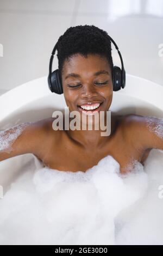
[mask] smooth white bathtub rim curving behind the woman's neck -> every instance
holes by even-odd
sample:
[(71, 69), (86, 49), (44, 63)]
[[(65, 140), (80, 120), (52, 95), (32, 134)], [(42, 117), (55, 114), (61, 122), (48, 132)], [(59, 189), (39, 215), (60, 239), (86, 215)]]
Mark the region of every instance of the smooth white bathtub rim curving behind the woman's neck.
[[(125, 94), (135, 97), (163, 111), (163, 101), (161, 97), (161, 95), (163, 95), (163, 86), (146, 80), (145, 78), (127, 74), (126, 87), (118, 92), (113, 92), (113, 97), (114, 94)], [(17, 95), (21, 95), (21, 97), (17, 97)], [(0, 96), (0, 109), (3, 109), (3, 111), (0, 112), (0, 120), (2, 121), (12, 112), (15, 112), (24, 105), (48, 95), (52, 95), (52, 93), (48, 88), (47, 76), (36, 78), (35, 80), (9, 90)], [(61, 97), (64, 99), (64, 94), (55, 94), (56, 104), (60, 104)], [(7, 105), (8, 102), (12, 102), (12, 104)]]

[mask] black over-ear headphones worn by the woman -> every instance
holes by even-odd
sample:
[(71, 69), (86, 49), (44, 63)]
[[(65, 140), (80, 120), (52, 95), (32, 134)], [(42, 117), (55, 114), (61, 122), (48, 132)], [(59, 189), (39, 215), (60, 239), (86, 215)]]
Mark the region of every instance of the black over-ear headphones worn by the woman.
[[(115, 45), (116, 50), (118, 51), (118, 54), (121, 59), (121, 65), (122, 65), (122, 69), (120, 69), (118, 66), (114, 66), (114, 70), (113, 70), (112, 84), (113, 84), (113, 90), (116, 92), (117, 90), (120, 90), (121, 88), (124, 88), (126, 86), (126, 72), (124, 70), (121, 52), (119, 51), (115, 41), (110, 36), (109, 38), (111, 42)], [(55, 71), (52, 72), (53, 58), (56, 50), (57, 50), (57, 44), (53, 48), (50, 62), (49, 62), (48, 87), (52, 93), (62, 94), (63, 88), (62, 88), (61, 79), (59, 77), (59, 70), (56, 69)]]

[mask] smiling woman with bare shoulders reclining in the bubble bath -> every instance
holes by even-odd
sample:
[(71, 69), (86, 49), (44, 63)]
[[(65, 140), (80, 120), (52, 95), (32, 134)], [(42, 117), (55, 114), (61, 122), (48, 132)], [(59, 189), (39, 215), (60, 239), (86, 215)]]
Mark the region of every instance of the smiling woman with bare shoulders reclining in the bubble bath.
[[(58, 40), (57, 51), (59, 76), (70, 112), (87, 116), (93, 109), (104, 111), (106, 122), (114, 69), (108, 34), (95, 26), (68, 28)], [(54, 130), (54, 119), (2, 131), (0, 161), (33, 153), (49, 168), (85, 172), (111, 155), (120, 164), (121, 173), (126, 173), (135, 160), (143, 163), (152, 148), (163, 150), (163, 120), (159, 118), (111, 114), (109, 136), (101, 136), (101, 129)]]

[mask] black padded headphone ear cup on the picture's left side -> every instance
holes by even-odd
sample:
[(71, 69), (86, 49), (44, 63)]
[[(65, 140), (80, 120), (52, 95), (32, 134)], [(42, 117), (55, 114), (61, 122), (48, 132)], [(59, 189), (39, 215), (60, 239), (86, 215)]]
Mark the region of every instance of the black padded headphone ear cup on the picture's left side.
[(51, 78), (51, 88), (50, 88), (51, 91), (53, 93), (62, 94), (63, 89), (62, 89), (62, 84), (60, 81), (58, 69), (52, 72), (51, 77), (49, 77), (48, 79), (50, 78)]

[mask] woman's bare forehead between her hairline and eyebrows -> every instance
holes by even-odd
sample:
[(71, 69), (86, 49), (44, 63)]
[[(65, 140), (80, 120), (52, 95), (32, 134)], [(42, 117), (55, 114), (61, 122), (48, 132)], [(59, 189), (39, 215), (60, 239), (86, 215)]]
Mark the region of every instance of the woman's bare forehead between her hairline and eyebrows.
[(87, 57), (76, 54), (70, 59), (65, 60), (63, 66), (63, 75), (66, 76), (70, 72), (78, 74), (93, 74), (99, 70), (110, 71), (108, 60), (98, 54), (87, 54)]

